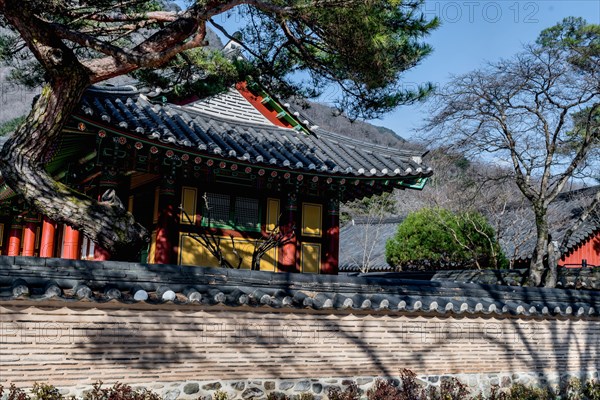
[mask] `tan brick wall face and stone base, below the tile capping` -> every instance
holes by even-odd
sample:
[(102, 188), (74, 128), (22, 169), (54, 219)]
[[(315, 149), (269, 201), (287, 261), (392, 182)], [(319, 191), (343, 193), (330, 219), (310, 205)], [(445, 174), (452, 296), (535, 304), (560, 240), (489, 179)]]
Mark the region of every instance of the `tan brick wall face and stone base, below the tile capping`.
[(0, 303), (0, 383), (80, 392), (119, 381), (169, 399), (221, 385), (248, 399), (321, 396), (356, 377), (366, 390), (408, 368), (425, 382), (460, 374), (481, 389), (565, 373), (597, 378), (599, 340), (598, 318), (14, 300)]

